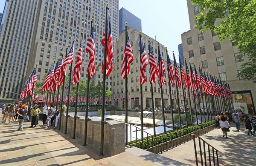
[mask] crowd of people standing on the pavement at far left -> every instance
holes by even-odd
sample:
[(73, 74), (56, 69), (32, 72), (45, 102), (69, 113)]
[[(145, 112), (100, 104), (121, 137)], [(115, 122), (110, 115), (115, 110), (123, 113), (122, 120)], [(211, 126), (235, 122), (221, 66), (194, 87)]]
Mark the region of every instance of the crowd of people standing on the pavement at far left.
[(44, 106), (43, 111), (41, 111), (38, 108), (37, 104), (35, 104), (33, 107), (30, 108), (31, 111), (29, 111), (29, 106), (28, 106), (29, 103), (19, 104), (19, 105), (5, 104), (1, 106), (2, 114), (3, 114), (2, 123), (19, 122), (18, 130), (22, 130), (23, 122), (29, 121), (29, 118), (31, 118), (30, 128), (37, 127), (39, 114), (42, 112), (41, 114), (43, 116), (43, 126), (46, 126), (47, 129), (50, 129), (50, 126), (54, 126), (53, 129), (56, 129), (58, 125), (58, 120), (60, 118), (60, 112), (62, 114), (65, 114), (67, 111), (67, 106), (65, 104), (66, 103), (63, 102), (62, 112), (61, 112), (61, 108), (59, 108), (56, 111), (56, 105), (53, 105), (53, 103), (47, 103)]

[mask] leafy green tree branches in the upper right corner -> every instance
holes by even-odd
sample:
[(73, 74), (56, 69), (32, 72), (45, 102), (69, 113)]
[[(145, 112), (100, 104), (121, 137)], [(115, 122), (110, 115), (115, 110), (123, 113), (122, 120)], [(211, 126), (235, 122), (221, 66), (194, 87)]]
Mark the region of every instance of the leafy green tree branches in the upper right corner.
[[(200, 7), (196, 28), (212, 30), (220, 41), (229, 37), (249, 60), (237, 77), (256, 79), (256, 0), (190, 0)], [(220, 21), (220, 24), (216, 23)]]

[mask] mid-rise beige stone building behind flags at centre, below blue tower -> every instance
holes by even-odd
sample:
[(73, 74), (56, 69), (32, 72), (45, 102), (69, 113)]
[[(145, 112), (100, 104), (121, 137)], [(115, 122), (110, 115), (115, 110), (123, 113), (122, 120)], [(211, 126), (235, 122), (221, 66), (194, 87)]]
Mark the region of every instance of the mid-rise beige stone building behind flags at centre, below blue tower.
[[(131, 47), (133, 50), (134, 61), (130, 65), (130, 74), (128, 74), (128, 109), (138, 109), (140, 103), (140, 31), (137, 29), (133, 29), (129, 27), (127, 29), (131, 41)], [(148, 54), (149, 59), (149, 46), (148, 46), (148, 37), (146, 34), (142, 34), (143, 44), (145, 46), (146, 52)], [(154, 50), (154, 56), (156, 57), (156, 62), (158, 64), (158, 54), (157, 54), (157, 43), (158, 41), (150, 38), (151, 46)], [(113, 63), (113, 73), (112, 73), (112, 98), (124, 98), (125, 97), (125, 80), (121, 77), (121, 69), (122, 69), (122, 61), (125, 47), (125, 31), (122, 31), (119, 34), (119, 40), (116, 42), (116, 61)], [(166, 47), (163, 44), (159, 44), (160, 52), (162, 54), (162, 58), (166, 68), (167, 62), (167, 54)], [(172, 57), (172, 54), (170, 54)], [(173, 62), (172, 62), (173, 63)], [(151, 85), (150, 81), (150, 65), (145, 68), (145, 77), (146, 81), (143, 85), (143, 108), (151, 107)], [(169, 93), (169, 82), (168, 82), (168, 73), (167, 69), (165, 72), (166, 84), (163, 86), (163, 101), (165, 106), (170, 105), (170, 93)], [(158, 79), (156, 79), (156, 83), (152, 83), (153, 92), (154, 92), (154, 106), (156, 108), (161, 107), (161, 93), (160, 87), (158, 84)], [(172, 100), (174, 103), (174, 95), (176, 94), (176, 89), (172, 87)], [(181, 92), (179, 90), (179, 100), (180, 103), (184, 104), (183, 98), (181, 98)], [(134, 97), (136, 101), (134, 102)], [(175, 101), (177, 105), (177, 101)], [(125, 102), (123, 103), (112, 103), (119, 107), (119, 109), (125, 108)]]

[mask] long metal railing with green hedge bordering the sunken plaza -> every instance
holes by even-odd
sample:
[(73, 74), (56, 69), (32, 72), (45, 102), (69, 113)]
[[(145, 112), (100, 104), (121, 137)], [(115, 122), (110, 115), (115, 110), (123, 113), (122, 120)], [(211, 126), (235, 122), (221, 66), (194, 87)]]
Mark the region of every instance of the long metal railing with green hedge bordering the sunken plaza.
[(136, 146), (140, 149), (145, 149), (149, 152), (160, 154), (168, 151), (169, 149), (172, 149), (173, 147), (177, 147), (182, 143), (192, 140), (193, 137), (191, 136), (191, 134), (203, 135), (207, 132), (212, 131), (213, 129), (215, 129), (215, 120), (191, 126), (186, 129), (177, 130), (175, 132), (168, 132), (164, 135), (159, 135), (156, 137), (144, 131), (145, 133), (147, 133), (147, 137), (145, 137), (144, 140), (138, 140), (136, 127), (136, 140), (131, 141), (131, 139), (128, 145), (126, 145), (125, 147)]

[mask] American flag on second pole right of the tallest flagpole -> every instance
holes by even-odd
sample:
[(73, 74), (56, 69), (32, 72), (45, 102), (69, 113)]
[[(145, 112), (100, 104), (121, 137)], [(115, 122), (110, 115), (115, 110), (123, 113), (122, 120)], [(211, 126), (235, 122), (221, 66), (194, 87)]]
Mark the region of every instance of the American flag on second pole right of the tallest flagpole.
[(148, 65), (148, 57), (145, 51), (143, 40), (141, 39), (141, 57), (140, 57), (140, 83), (145, 83), (145, 67)]

